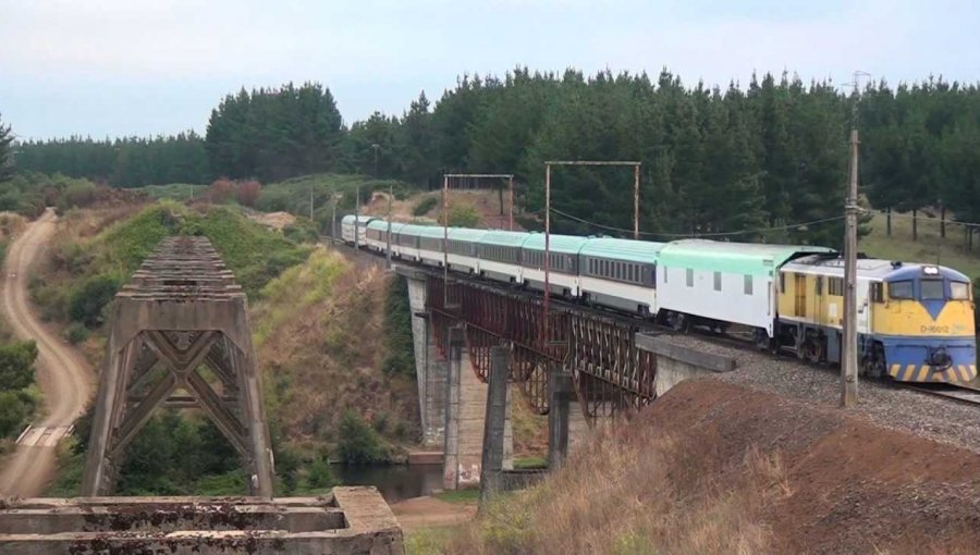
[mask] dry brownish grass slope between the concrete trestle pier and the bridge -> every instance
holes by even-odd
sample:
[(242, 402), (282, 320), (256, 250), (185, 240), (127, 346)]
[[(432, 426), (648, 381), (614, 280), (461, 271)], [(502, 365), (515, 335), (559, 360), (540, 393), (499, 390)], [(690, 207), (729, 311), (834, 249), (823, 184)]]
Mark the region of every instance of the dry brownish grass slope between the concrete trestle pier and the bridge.
[(352, 412), (377, 432), (368, 440), (378, 443), (373, 458), (400, 458), (397, 445), (418, 435), (414, 366), (379, 342), (392, 325), (390, 287), (377, 268), (320, 248), (262, 288), (253, 325), (266, 404), (282, 436), (305, 456), (336, 459), (340, 424)]

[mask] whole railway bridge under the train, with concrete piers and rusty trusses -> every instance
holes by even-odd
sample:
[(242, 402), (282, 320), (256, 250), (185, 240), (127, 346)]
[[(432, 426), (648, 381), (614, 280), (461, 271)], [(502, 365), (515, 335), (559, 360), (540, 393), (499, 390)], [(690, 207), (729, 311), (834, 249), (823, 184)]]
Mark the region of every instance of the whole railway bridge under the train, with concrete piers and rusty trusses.
[[(597, 422), (648, 405), (691, 373), (734, 368), (672, 345), (649, 321), (554, 300), (546, 312), (540, 293), (465, 275), (446, 280), (429, 267), (395, 271), (408, 283), (421, 427), (427, 443), (444, 452), (445, 489), (479, 480), (483, 439), (492, 433), (487, 384), (500, 347), (509, 355), (507, 391), (548, 415), (550, 465)], [(506, 469), (506, 419), (501, 432)]]

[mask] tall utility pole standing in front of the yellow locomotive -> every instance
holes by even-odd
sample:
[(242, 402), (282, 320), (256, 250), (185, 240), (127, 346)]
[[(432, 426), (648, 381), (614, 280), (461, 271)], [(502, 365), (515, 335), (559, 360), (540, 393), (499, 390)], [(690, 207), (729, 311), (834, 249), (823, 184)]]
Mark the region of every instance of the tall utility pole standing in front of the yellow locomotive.
[(857, 404), (857, 180), (858, 180), (858, 131), (857, 102), (858, 77), (868, 75), (854, 72), (854, 108), (850, 130), (850, 180), (844, 200), (846, 217), (844, 232), (844, 345), (841, 356), (841, 406)]

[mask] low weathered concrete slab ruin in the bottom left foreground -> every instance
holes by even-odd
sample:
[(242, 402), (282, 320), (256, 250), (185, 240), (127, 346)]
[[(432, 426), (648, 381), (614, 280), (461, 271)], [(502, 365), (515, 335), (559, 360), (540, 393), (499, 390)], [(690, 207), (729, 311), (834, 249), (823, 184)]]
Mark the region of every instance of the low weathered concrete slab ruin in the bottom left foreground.
[(373, 488), (321, 497), (0, 499), (0, 555), (402, 555)]

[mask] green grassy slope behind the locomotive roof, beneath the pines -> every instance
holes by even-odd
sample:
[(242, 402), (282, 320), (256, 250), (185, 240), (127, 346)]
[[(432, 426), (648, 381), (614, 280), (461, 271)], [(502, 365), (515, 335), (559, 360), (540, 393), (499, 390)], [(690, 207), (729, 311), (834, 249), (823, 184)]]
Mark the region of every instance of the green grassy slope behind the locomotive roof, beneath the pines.
[[(939, 218), (930, 219), (919, 212), (918, 240), (912, 240), (911, 213), (893, 214), (892, 236), (887, 236), (885, 215), (875, 213), (868, 226), (871, 233), (861, 237), (858, 250), (869, 257), (904, 262), (939, 263), (980, 279), (980, 245), (973, 251), (964, 248), (963, 229), (946, 223), (946, 238), (940, 236)], [(947, 214), (948, 217), (948, 214)]]

